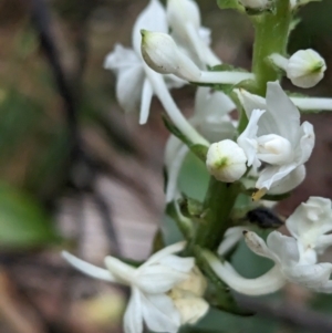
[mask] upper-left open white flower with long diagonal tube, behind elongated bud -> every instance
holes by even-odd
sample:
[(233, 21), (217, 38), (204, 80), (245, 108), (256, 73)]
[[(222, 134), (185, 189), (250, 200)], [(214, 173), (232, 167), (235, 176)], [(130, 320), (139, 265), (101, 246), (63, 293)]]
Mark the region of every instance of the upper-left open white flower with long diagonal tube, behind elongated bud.
[(133, 49), (116, 45), (106, 59), (104, 66), (113, 70), (117, 75), (116, 96), (125, 111), (136, 110), (141, 102), (139, 124), (148, 118), (152, 97), (155, 94), (172, 122), (190, 141), (208, 145), (207, 141), (188, 124), (168, 91), (169, 87), (179, 87), (184, 84), (174, 75), (164, 77), (151, 70), (141, 55), (141, 30), (152, 29), (167, 32), (167, 20), (164, 7), (158, 0), (151, 0), (149, 4), (138, 15), (133, 28)]

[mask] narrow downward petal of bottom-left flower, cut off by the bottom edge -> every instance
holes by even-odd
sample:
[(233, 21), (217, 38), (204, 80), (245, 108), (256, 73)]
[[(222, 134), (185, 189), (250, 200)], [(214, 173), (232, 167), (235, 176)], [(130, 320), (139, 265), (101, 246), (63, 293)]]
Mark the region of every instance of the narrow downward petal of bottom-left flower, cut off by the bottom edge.
[(143, 332), (143, 303), (141, 300), (141, 292), (135, 287), (132, 288), (132, 295), (123, 322), (125, 333)]

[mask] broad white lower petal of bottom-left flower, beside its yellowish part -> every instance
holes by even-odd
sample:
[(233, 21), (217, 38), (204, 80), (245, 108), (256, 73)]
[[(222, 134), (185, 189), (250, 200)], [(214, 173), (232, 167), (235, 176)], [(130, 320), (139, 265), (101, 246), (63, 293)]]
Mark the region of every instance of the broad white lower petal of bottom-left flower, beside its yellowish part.
[(180, 326), (179, 312), (165, 294), (141, 294), (143, 316), (153, 332), (176, 333)]

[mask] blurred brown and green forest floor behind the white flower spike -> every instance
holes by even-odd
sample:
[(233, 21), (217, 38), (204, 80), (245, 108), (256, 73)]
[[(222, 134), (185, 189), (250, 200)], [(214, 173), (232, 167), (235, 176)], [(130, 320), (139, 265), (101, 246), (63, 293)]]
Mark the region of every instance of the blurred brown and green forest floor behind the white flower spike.
[[(250, 69), (249, 20), (197, 1), (212, 29), (216, 53)], [(132, 25), (146, 0), (0, 0), (0, 332), (122, 332), (128, 291), (93, 281), (68, 267), (68, 249), (103, 264), (106, 254), (143, 260), (159, 228), (178, 238), (163, 217), (163, 156), (167, 139), (158, 101), (146, 125), (124, 115), (115, 76), (103, 69), (115, 43), (131, 46)], [(332, 1), (299, 12), (290, 53), (313, 48), (326, 60), (324, 80), (308, 94), (332, 97)], [(286, 89), (292, 89), (284, 82)], [(185, 114), (195, 87), (174, 91)], [(307, 92), (305, 92), (307, 93)], [(304, 115), (315, 126), (317, 146), (308, 178), (278, 206), (289, 216), (310, 195), (332, 195), (330, 114)], [(184, 191), (204, 196), (207, 174), (193, 156), (183, 167)], [(245, 256), (245, 258), (243, 258)], [(326, 261), (331, 261), (331, 253)], [(257, 277), (269, 262), (240, 247), (234, 264)], [(332, 332), (332, 298), (289, 285), (255, 300), (257, 312), (239, 318), (211, 313), (184, 331), (225, 333)], [(218, 327), (218, 330), (216, 330)]]

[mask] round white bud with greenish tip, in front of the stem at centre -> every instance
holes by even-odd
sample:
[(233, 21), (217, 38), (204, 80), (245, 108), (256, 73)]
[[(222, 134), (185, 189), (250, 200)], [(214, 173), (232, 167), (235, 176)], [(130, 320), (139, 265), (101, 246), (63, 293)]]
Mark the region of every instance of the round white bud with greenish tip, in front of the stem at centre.
[(247, 157), (242, 148), (230, 139), (211, 144), (206, 166), (216, 179), (232, 183), (243, 176), (247, 170)]

